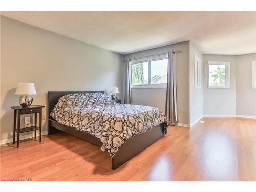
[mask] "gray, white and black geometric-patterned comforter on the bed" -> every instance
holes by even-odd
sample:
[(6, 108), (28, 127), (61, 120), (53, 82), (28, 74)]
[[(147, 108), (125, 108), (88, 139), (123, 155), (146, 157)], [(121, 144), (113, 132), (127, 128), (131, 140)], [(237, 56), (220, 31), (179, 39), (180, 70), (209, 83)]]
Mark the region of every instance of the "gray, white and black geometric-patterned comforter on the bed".
[(50, 114), (57, 122), (90, 133), (113, 158), (127, 139), (168, 120), (158, 108), (117, 104), (102, 93), (69, 94), (59, 98)]

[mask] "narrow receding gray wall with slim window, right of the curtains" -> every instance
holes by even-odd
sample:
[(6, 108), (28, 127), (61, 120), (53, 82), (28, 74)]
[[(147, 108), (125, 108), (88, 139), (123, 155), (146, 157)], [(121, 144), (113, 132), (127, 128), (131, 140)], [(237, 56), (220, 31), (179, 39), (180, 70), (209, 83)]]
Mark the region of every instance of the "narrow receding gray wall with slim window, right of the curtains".
[[(189, 41), (190, 126), (203, 115), (203, 54)], [(195, 88), (195, 55), (201, 59), (201, 88)]]

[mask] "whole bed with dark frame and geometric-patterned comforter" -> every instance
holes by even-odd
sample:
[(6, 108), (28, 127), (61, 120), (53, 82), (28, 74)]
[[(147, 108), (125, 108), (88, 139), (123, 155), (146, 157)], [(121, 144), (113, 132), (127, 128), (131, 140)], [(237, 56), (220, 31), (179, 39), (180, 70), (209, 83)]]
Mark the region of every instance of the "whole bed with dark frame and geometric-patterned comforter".
[(157, 108), (117, 104), (103, 93), (49, 91), (48, 134), (63, 131), (101, 147), (109, 152), (115, 170), (163, 137), (167, 119)]

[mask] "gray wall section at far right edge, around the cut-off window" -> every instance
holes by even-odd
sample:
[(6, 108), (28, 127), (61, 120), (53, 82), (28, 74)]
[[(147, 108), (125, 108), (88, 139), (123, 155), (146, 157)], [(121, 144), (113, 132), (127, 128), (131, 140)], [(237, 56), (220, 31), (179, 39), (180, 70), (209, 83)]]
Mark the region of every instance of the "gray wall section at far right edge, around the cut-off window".
[(252, 89), (252, 61), (256, 60), (256, 53), (236, 58), (236, 114), (256, 117), (256, 89)]

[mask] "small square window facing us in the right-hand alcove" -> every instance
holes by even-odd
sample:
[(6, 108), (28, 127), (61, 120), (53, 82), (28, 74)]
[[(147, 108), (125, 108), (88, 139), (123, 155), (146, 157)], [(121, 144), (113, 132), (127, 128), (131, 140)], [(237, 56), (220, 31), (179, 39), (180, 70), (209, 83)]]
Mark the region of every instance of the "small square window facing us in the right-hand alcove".
[(229, 88), (229, 62), (208, 62), (208, 88)]

